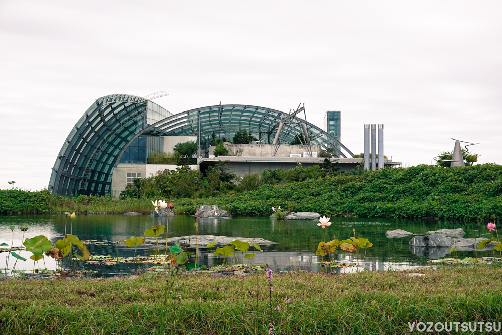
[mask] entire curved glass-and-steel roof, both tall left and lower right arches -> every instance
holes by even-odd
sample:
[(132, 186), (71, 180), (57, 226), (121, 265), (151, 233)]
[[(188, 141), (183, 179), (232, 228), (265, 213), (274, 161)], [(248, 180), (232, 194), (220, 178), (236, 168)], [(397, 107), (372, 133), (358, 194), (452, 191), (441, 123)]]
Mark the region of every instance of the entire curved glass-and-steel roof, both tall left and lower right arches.
[[(49, 189), (59, 195), (106, 195), (111, 192), (113, 168), (124, 151), (139, 136), (197, 136), (201, 141), (214, 132), (231, 140), (239, 130), (272, 144), (282, 111), (250, 105), (215, 105), (172, 115), (150, 100), (128, 94), (97, 99), (66, 138), (51, 173)], [(352, 152), (334, 137), (299, 117), (281, 130), (280, 143), (289, 144), (302, 133), (301, 124), (312, 133), (312, 144)], [(346, 155), (337, 149), (342, 157)]]

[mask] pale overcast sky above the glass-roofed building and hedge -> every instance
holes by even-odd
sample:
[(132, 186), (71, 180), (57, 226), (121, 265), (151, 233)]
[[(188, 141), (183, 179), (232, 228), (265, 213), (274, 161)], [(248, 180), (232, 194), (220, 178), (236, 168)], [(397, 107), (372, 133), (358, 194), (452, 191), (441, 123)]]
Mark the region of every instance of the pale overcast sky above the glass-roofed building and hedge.
[(289, 111), (341, 141), (431, 164), (451, 138), (502, 162), (500, 1), (0, 0), (0, 188), (47, 187), (56, 156), (95, 99), (145, 96), (172, 113), (218, 104)]

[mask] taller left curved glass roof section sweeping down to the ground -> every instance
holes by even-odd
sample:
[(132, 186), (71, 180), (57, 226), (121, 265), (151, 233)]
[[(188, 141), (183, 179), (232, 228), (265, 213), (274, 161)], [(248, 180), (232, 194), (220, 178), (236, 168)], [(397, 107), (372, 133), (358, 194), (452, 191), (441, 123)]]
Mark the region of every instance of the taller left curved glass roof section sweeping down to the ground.
[(171, 116), (135, 95), (97, 99), (73, 126), (52, 168), (49, 190), (58, 195), (105, 195), (118, 154), (141, 130)]

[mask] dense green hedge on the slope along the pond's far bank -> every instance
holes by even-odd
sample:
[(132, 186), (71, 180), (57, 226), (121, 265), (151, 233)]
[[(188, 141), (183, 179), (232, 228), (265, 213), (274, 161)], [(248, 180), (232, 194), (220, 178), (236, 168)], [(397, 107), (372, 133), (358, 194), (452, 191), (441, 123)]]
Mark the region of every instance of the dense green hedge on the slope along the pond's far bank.
[[(115, 200), (79, 196), (63, 198), (47, 191), (0, 191), (2, 213), (50, 211), (150, 211), (150, 199)], [(487, 219), (502, 216), (502, 166), (438, 168), (420, 165), (360, 175), (327, 176), (286, 185), (264, 185), (258, 191), (204, 199), (166, 199), (175, 211), (193, 214), (202, 204), (218, 205), (233, 215), (266, 216), (271, 207), (326, 215), (360, 217), (436, 217)]]

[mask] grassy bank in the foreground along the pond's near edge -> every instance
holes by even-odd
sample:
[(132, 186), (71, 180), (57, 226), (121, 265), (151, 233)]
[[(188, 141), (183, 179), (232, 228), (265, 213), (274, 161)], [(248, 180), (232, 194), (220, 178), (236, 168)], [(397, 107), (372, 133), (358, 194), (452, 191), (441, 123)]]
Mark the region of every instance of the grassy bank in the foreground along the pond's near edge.
[(274, 274), (272, 292), (264, 273), (247, 277), (179, 275), (170, 291), (166, 291), (162, 275), (3, 281), (0, 331), (265, 334), (272, 321), (275, 334), (394, 334), (409, 333), (408, 322), (500, 321), (500, 268), (420, 272), (425, 275), (374, 271)]

